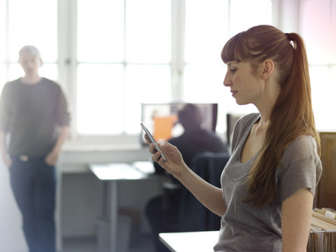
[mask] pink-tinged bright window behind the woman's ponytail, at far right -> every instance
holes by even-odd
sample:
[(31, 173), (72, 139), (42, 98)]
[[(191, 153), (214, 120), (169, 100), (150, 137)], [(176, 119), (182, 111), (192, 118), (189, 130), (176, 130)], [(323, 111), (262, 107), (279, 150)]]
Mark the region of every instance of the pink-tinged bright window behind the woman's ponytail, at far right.
[(311, 96), (318, 130), (335, 130), (336, 0), (305, 0), (300, 6), (311, 77)]

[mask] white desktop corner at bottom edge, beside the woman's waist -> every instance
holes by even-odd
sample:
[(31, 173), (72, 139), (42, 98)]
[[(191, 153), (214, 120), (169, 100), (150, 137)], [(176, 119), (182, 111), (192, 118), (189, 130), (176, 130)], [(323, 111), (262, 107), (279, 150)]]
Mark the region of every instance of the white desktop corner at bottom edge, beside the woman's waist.
[(160, 233), (160, 240), (172, 252), (211, 252), (218, 240), (219, 231)]

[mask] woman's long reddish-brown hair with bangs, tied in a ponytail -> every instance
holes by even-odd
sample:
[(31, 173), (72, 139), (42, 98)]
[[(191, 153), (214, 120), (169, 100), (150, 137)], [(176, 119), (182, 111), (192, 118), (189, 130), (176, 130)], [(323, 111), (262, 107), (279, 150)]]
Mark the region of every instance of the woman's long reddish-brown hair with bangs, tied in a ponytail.
[(265, 59), (272, 59), (279, 72), (281, 92), (269, 118), (264, 144), (248, 175), (250, 195), (244, 200), (264, 207), (276, 195), (276, 168), (286, 147), (304, 134), (314, 137), (321, 147), (311, 106), (307, 53), (299, 34), (259, 25), (230, 38), (221, 57), (225, 63), (250, 62), (254, 70)]

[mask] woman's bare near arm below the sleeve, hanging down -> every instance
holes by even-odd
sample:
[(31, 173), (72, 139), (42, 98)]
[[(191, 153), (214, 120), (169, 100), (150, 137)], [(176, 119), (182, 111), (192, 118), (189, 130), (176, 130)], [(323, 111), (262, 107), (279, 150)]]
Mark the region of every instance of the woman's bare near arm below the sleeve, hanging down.
[(282, 203), (282, 252), (307, 251), (313, 200), (312, 193), (304, 188)]

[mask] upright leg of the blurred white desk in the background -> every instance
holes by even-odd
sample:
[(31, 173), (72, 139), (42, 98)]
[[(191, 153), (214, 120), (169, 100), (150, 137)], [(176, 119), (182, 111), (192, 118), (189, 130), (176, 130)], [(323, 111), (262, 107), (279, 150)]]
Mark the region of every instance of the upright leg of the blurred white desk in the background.
[(111, 181), (111, 252), (117, 252), (118, 181)]

